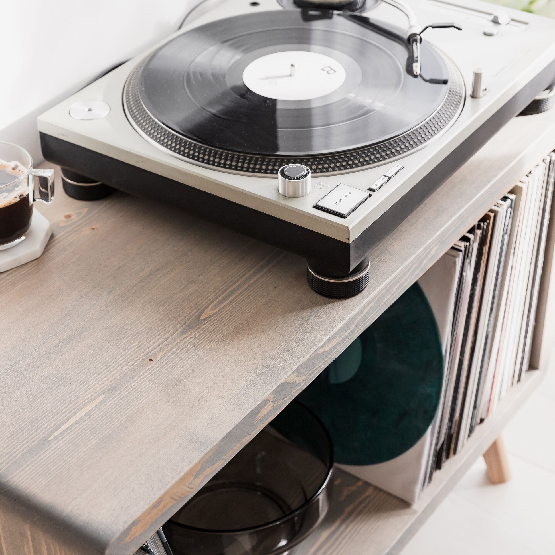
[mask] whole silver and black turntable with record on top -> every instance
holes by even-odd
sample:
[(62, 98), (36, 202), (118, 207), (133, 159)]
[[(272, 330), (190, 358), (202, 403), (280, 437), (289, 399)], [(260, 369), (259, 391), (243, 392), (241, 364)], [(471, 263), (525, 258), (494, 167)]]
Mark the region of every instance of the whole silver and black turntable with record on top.
[(197, 9), (41, 115), (44, 157), (75, 191), (179, 205), (304, 256), (320, 294), (359, 293), (372, 246), (553, 82), (555, 21), (309, 1)]

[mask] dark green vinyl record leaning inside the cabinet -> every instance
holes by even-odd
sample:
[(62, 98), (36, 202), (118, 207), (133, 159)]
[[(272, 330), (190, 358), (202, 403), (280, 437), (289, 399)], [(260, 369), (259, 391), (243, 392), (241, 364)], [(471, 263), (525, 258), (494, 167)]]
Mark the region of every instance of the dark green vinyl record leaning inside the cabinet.
[(436, 415), (443, 349), (432, 309), (412, 285), (300, 395), (324, 422), (335, 461), (374, 465), (410, 449)]

